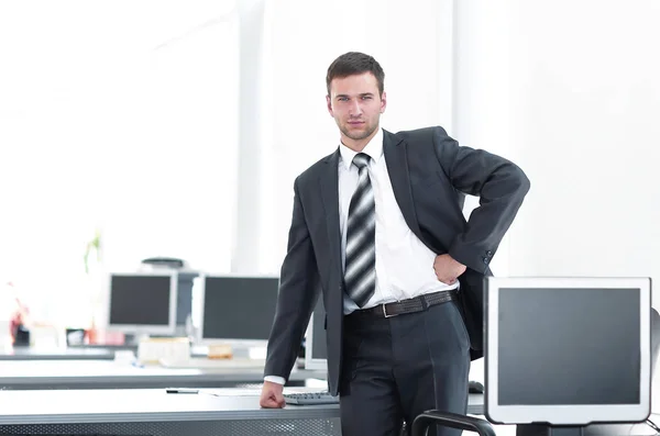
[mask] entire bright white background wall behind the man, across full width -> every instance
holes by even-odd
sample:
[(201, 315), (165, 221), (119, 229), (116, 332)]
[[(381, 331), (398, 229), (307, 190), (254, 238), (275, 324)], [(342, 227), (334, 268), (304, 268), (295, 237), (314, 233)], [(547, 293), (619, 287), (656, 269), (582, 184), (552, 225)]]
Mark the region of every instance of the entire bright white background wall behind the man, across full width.
[[(263, 29), (243, 33), (263, 38), (258, 63), (233, 44), (233, 1), (0, 4), (0, 273), (77, 271), (96, 226), (118, 268), (173, 254), (226, 269), (235, 236), (253, 255), (232, 267), (277, 271), (293, 180), (337, 146), (326, 69), (355, 49), (385, 68), (386, 128), (442, 124), (529, 175), (496, 273), (658, 282), (658, 1), (250, 3), (265, 4)], [(240, 132), (237, 59), (262, 83)], [(260, 159), (237, 179), (240, 138)], [(251, 171), (260, 219), (234, 234)]]

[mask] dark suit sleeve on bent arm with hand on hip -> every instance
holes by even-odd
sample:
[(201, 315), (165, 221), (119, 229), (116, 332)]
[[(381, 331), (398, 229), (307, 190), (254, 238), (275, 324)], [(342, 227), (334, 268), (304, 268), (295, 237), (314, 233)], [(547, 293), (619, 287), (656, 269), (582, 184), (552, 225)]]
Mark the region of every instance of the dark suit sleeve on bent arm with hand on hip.
[(485, 273), (529, 191), (529, 179), (503, 157), (459, 146), (442, 127), (433, 128), (432, 136), (436, 155), (452, 186), (480, 198), (480, 205), (470, 215), (465, 231), (452, 242), (449, 254)]

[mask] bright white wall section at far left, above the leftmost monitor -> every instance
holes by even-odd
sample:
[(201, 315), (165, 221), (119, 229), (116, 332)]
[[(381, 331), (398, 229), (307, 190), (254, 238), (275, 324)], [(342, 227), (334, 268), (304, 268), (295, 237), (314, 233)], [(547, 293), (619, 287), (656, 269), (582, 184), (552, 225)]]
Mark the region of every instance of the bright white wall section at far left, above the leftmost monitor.
[[(238, 148), (233, 0), (0, 3), (0, 279), (47, 315), (105, 266), (229, 270)], [(73, 310), (72, 310), (73, 311)]]

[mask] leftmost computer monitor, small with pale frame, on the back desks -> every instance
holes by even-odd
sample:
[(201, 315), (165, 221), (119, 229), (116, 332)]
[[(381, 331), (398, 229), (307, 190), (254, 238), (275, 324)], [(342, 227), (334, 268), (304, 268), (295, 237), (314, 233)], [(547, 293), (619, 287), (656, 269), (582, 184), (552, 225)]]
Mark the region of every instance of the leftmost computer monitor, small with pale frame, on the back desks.
[(113, 272), (109, 281), (108, 329), (129, 334), (174, 334), (176, 271)]

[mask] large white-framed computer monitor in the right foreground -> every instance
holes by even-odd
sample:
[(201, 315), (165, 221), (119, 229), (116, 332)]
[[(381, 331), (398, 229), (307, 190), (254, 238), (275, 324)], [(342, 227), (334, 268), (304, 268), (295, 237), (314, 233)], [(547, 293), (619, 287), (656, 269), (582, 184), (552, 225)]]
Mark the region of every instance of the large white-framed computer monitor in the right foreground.
[(649, 278), (486, 279), (488, 420), (556, 428), (645, 421), (650, 288)]

